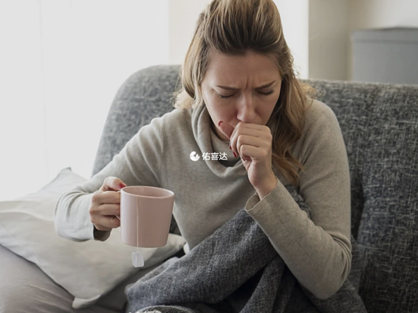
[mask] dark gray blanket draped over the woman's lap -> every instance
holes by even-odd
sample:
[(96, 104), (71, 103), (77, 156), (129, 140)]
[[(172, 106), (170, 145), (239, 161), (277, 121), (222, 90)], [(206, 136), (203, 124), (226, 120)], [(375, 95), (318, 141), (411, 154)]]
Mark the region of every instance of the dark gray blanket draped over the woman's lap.
[[(311, 218), (295, 186), (286, 187)], [(127, 312), (366, 312), (359, 297), (363, 258), (351, 236), (350, 275), (320, 300), (297, 282), (245, 209), (183, 257), (172, 257), (125, 288)]]

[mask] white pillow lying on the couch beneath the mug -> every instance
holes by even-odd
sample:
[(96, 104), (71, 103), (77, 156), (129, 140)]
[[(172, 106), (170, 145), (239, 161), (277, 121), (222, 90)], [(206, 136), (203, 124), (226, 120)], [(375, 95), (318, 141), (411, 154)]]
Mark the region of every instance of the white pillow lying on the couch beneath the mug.
[(134, 268), (131, 253), (137, 248), (122, 243), (120, 228), (112, 230), (106, 241), (62, 238), (54, 226), (56, 202), (86, 180), (64, 168), (40, 191), (0, 202), (0, 244), (38, 265), (72, 294), (75, 309), (93, 305), (133, 273), (164, 261), (185, 245), (183, 236), (169, 234), (164, 247), (139, 248), (145, 265)]

